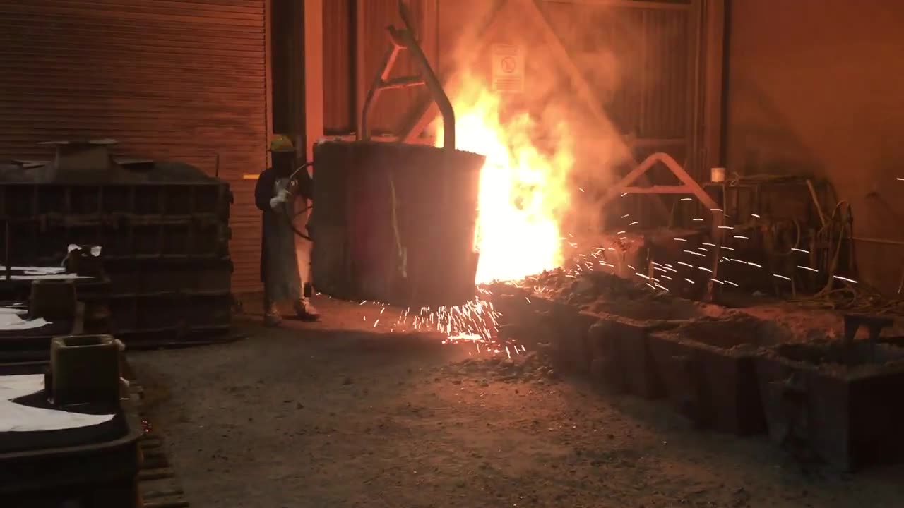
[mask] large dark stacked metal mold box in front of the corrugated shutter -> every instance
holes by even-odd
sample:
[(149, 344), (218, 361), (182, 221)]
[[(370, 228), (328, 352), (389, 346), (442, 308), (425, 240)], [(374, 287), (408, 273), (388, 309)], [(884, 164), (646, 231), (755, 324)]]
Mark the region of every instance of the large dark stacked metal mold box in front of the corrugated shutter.
[(46, 266), (101, 247), (110, 331), (187, 341), (231, 325), (229, 184), (192, 165), (114, 160), (110, 142), (61, 143), (50, 163), (0, 165), (0, 252)]

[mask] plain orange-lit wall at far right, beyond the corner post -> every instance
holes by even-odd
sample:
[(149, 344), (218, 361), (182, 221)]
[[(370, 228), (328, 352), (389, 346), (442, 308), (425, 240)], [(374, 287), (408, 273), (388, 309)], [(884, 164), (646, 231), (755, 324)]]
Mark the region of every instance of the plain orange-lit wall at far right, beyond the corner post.
[(812, 173), (852, 204), (862, 280), (897, 293), (904, 259), (904, 3), (733, 0), (726, 163)]

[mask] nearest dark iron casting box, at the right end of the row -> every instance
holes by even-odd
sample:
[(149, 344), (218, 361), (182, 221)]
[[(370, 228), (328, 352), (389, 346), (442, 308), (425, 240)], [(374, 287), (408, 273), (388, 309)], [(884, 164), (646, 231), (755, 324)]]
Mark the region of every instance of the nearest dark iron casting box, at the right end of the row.
[(841, 342), (783, 344), (758, 358), (770, 437), (846, 471), (899, 461), (904, 348), (874, 348), (866, 341), (855, 341), (851, 353)]

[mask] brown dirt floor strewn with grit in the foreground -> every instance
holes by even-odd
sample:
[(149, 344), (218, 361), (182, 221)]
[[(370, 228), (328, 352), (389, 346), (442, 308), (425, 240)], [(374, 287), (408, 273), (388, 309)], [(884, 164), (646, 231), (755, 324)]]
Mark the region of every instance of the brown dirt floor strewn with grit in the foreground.
[(804, 466), (765, 437), (694, 431), (664, 403), (542, 364), (391, 334), (381, 307), (318, 303), (320, 324), (250, 320), (236, 343), (129, 354), (193, 506), (865, 508), (904, 497), (904, 467)]

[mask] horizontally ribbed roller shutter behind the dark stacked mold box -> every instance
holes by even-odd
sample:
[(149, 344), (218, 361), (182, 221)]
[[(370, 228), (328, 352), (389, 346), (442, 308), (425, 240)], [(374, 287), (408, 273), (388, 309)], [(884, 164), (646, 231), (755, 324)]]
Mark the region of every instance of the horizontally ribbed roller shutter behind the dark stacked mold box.
[(0, 0), (0, 159), (113, 137), (118, 155), (229, 181), (233, 291), (259, 288), (253, 181), (266, 164), (266, 0)]

